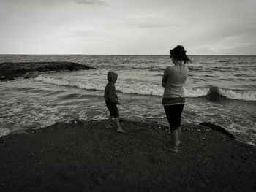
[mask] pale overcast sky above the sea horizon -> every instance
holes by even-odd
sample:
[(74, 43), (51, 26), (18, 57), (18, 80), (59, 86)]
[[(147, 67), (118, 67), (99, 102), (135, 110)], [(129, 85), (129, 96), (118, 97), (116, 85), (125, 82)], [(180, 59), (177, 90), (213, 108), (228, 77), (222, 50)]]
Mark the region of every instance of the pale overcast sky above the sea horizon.
[(255, 0), (0, 0), (0, 54), (256, 55)]

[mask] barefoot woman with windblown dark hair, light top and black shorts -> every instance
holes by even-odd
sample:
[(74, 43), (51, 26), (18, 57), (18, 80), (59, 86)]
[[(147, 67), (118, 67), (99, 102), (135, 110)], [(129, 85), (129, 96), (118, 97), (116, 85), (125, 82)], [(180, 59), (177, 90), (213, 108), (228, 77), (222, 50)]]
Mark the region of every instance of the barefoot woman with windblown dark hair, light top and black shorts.
[(191, 60), (186, 55), (186, 50), (178, 45), (170, 50), (170, 58), (174, 66), (167, 66), (162, 77), (162, 86), (165, 88), (162, 104), (170, 125), (170, 151), (177, 153), (181, 143), (181, 113), (185, 104), (183, 85), (189, 76), (189, 69), (185, 66)]

